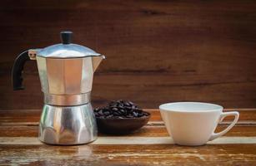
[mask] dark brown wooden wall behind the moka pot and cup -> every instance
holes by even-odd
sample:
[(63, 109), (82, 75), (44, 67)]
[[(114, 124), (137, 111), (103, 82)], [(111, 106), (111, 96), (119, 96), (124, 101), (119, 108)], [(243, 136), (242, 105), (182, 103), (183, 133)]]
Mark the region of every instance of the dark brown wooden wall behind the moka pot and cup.
[(143, 108), (197, 100), (256, 107), (255, 1), (0, 2), (0, 109), (43, 105), (35, 61), (26, 90), (13, 91), (18, 53), (73, 41), (107, 56), (94, 77), (93, 104), (128, 99)]

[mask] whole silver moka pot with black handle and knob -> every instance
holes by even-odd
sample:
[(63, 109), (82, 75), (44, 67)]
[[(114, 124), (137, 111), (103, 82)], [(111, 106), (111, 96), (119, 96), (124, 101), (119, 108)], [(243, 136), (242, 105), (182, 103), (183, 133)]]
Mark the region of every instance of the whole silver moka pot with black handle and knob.
[(46, 144), (87, 144), (97, 138), (90, 103), (93, 72), (105, 56), (71, 43), (72, 32), (61, 32), (63, 43), (23, 51), (14, 62), (13, 90), (23, 90), (23, 66), (36, 60), (44, 106), (39, 139)]

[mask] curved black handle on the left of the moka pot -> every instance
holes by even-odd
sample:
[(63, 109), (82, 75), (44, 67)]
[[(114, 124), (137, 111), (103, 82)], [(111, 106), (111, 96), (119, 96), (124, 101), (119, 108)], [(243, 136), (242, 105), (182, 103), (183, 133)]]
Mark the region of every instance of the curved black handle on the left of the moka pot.
[(24, 90), (23, 86), (23, 68), (26, 61), (30, 61), (28, 50), (23, 51), (14, 61), (12, 78), (13, 90)]

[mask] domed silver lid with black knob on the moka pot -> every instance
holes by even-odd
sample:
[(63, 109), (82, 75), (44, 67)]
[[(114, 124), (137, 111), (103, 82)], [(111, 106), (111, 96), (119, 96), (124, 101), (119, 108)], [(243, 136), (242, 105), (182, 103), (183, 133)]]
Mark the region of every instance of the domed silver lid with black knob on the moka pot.
[(63, 43), (47, 46), (38, 52), (38, 56), (47, 58), (79, 58), (86, 56), (101, 56), (92, 49), (71, 43), (73, 32), (61, 32)]

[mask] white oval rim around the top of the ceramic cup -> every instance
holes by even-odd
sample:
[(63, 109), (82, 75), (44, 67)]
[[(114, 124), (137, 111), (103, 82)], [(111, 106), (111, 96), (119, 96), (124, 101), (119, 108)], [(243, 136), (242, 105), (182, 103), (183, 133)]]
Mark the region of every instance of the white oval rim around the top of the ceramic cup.
[[(186, 104), (197, 104), (197, 105), (208, 105), (215, 108), (208, 108), (203, 110), (178, 110), (178, 109), (168, 109), (167, 106), (171, 105), (186, 105)], [(216, 105), (213, 103), (206, 103), (206, 102), (193, 102), (193, 101), (181, 101), (181, 102), (170, 102), (170, 103), (164, 103), (162, 105), (159, 105), (160, 111), (168, 111), (168, 112), (178, 112), (178, 113), (203, 113), (203, 112), (213, 112), (213, 111), (222, 111), (223, 106)]]

